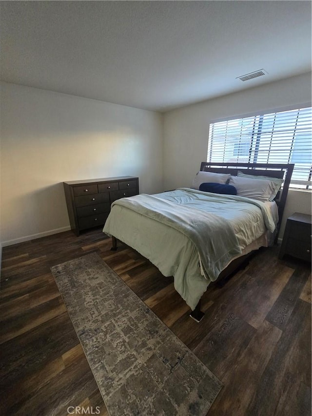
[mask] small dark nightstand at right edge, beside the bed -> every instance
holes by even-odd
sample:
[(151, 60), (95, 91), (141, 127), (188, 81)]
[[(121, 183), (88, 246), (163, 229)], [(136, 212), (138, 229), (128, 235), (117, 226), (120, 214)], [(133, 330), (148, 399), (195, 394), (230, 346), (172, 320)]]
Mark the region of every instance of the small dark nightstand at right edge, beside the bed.
[(295, 212), (287, 218), (279, 258), (285, 254), (311, 261), (311, 215)]

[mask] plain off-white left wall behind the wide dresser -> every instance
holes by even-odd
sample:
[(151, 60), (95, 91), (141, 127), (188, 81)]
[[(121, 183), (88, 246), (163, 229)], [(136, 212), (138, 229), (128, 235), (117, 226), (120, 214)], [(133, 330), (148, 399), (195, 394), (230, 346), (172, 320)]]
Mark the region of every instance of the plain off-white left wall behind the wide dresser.
[(163, 190), (162, 115), (1, 83), (1, 242), (69, 229), (63, 181), (137, 176)]

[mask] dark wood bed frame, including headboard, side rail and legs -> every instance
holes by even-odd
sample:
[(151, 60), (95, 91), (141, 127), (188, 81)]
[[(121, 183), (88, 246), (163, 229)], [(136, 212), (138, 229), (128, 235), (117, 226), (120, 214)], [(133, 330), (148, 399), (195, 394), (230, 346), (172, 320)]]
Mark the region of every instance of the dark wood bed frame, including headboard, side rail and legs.
[[(278, 207), (278, 223), (277, 223), (277, 231), (275, 236), (275, 243), (277, 242), (278, 232), (280, 229), (280, 224), (283, 218), (283, 213), (285, 209), (287, 194), (289, 185), (292, 178), (292, 171), (293, 171), (294, 163), (214, 163), (214, 162), (201, 162), (200, 170), (204, 172), (213, 172), (213, 173), (230, 173), (233, 176), (237, 176), (238, 171), (249, 174), (249, 175), (256, 175), (256, 176), (268, 176), (271, 178), (279, 178), (283, 179), (284, 183), (281, 189), (278, 191), (274, 201)], [(117, 239), (112, 237), (113, 247), (111, 250), (117, 250)], [(239, 258), (235, 258), (218, 276), (217, 282), (218, 284), (224, 284), (224, 281), (229, 279), (234, 273), (238, 270), (245, 268), (249, 262), (251, 256), (254, 255), (254, 251), (241, 256)], [(223, 282), (223, 283), (222, 283)], [(204, 317), (204, 313), (200, 310), (200, 303), (199, 300), (198, 304), (196, 305), (194, 311), (191, 312), (190, 317), (192, 317), (196, 322), (200, 322), (201, 319)]]

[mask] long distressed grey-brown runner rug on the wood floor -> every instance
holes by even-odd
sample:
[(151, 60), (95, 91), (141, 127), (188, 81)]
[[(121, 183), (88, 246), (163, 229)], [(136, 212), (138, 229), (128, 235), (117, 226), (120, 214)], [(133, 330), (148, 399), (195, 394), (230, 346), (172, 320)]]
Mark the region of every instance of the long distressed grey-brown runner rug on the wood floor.
[(96, 253), (51, 271), (111, 416), (207, 414), (220, 381)]

